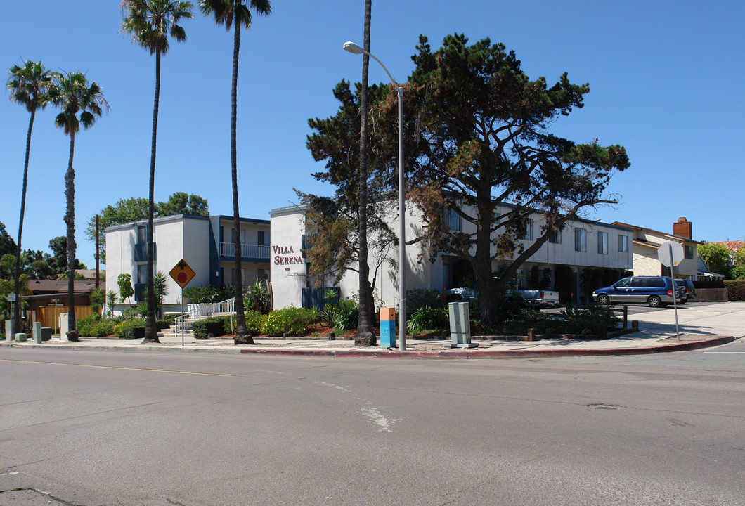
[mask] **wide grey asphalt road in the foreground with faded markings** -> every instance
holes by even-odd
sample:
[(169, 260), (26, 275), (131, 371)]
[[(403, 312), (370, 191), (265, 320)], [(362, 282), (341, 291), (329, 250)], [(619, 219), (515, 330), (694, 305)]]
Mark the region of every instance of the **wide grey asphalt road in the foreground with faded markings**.
[(480, 361), (0, 348), (0, 382), (0, 505), (745, 505), (743, 340)]

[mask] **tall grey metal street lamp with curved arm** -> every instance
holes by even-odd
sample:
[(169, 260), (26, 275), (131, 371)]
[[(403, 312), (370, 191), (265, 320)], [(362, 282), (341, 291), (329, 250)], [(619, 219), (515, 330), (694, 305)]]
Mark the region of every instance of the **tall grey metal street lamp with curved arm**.
[(383, 62), (378, 60), (374, 54), (369, 51), (365, 51), (358, 44), (354, 42), (344, 42), (344, 51), (349, 51), (352, 54), (367, 54), (367, 56), (373, 58), (376, 62), (380, 63), (383, 70), (390, 78), (393, 86), (399, 90), (399, 220), (401, 229), (399, 230), (399, 350), (406, 350), (406, 276), (404, 273), (404, 265), (406, 261), (406, 219), (405, 219), (405, 202), (404, 202), (404, 88), (393, 79), (388, 69), (385, 68)]

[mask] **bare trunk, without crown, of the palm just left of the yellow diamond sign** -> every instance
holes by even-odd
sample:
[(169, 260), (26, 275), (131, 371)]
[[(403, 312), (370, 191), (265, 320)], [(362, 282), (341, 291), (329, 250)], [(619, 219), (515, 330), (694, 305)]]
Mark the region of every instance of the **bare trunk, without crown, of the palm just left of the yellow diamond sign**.
[(158, 106), (160, 101), (160, 50), (155, 51), (155, 98), (153, 99), (153, 135), (150, 144), (150, 193), (148, 194), (148, 314), (145, 318), (145, 339), (142, 342), (159, 343), (158, 327), (155, 323), (155, 288), (153, 270), (155, 248), (153, 247), (153, 216), (155, 215), (155, 151), (158, 139)]

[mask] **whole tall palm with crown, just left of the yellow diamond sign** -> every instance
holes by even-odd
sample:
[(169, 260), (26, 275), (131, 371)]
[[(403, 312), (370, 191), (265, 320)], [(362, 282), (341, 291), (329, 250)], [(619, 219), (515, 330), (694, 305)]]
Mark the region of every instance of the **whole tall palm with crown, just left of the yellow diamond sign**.
[(186, 31), (178, 23), (191, 14), (190, 1), (123, 0), (124, 19), (121, 28), (132, 34), (142, 48), (155, 54), (155, 100), (153, 101), (153, 135), (150, 144), (150, 195), (148, 206), (148, 317), (145, 319), (145, 340), (160, 342), (155, 323), (155, 290), (153, 289), (153, 215), (155, 214), (155, 151), (158, 138), (158, 104), (160, 100), (160, 56), (168, 53), (168, 37), (183, 42)]

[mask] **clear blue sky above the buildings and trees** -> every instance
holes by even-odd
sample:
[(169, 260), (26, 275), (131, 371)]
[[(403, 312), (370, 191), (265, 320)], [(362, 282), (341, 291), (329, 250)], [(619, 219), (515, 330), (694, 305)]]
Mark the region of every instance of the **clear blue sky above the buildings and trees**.
[[(0, 64), (41, 60), (86, 72), (111, 105), (76, 136), (78, 258), (93, 267), (83, 231), (107, 204), (148, 196), (154, 57), (121, 34), (118, 0), (2, 1)], [(273, 0), (241, 36), (238, 78), (238, 189), (241, 215), (269, 218), (297, 202), (294, 188), (329, 195), (311, 173), (307, 120), (335, 113), (332, 89), (361, 76), (363, 0)], [(589, 83), (585, 107), (559, 118), (554, 133), (627, 148), (631, 167), (609, 193), (615, 208), (589, 218), (672, 232), (685, 216), (694, 239), (741, 239), (745, 138), (745, 4), (740, 1), (373, 0), (371, 51), (397, 80), (413, 69), (419, 34), (433, 48), (454, 32), (489, 37), (516, 51), (531, 78), (562, 72)], [(210, 212), (232, 214), (229, 105), (232, 36), (195, 11), (188, 40), (162, 60), (156, 200), (188, 192)], [(386, 75), (370, 63), (371, 82)], [(0, 221), (18, 233), (28, 113), (0, 101)], [(24, 249), (48, 250), (65, 235), (63, 177), (69, 139), (54, 110), (37, 114), (31, 144)]]

